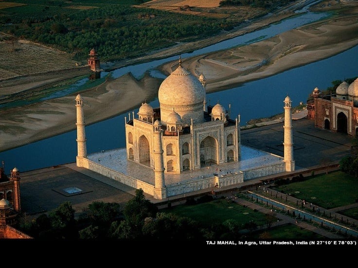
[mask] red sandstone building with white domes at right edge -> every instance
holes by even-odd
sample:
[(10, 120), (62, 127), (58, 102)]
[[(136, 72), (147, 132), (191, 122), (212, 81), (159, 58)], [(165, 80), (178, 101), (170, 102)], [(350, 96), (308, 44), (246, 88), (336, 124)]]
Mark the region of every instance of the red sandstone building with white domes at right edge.
[(342, 82), (336, 94), (322, 96), (316, 87), (307, 101), (307, 118), (315, 120), (315, 127), (356, 136), (358, 133), (358, 78), (348, 84)]

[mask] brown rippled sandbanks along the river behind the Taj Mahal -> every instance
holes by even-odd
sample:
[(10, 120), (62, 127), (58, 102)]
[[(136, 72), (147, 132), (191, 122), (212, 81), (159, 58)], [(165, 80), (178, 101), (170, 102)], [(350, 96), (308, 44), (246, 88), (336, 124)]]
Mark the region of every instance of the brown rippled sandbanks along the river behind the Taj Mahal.
[[(285, 16), (292, 16), (292, 13), (252, 23), (245, 28), (237, 29), (235, 34), (237, 36), (254, 31)], [(350, 8), (349, 14), (340, 14), (339, 17), (312, 23), (252, 45), (182, 59), (183, 66), (190, 69), (194, 75), (205, 74), (208, 93), (220, 91), (235, 84), (264, 78), (352, 48), (358, 44), (357, 31), (355, 5)], [(233, 37), (234, 33), (230, 34), (232, 36), (226, 36), (226, 39)], [(208, 42), (205, 45), (209, 45), (210, 42), (211, 44), (217, 42), (219, 38), (225, 39), (220, 36), (203, 42)], [(177, 46), (131, 60), (126, 64), (179, 55), (197, 49), (196, 46), (199, 44)], [(176, 64), (177, 61), (166, 64), (161, 70), (169, 74)], [(56, 76), (54, 74), (53, 78)], [(37, 76), (38, 83), (41, 83), (40, 77)], [(43, 76), (43, 79), (45, 78), (48, 79), (46, 74)], [(143, 101), (153, 100), (157, 96), (160, 84), (161, 79), (148, 75), (141, 80), (136, 80), (130, 74), (126, 74), (115, 80), (107, 78), (103, 84), (81, 92), (85, 103), (86, 124), (139, 108)], [(19, 83), (17, 86), (23, 87), (24, 84)], [(315, 86), (312, 85), (312, 89)], [(23, 106), (21, 109), (9, 108), (1, 111), (0, 151), (74, 130), (76, 121), (74, 98), (75, 95), (70, 95)]]

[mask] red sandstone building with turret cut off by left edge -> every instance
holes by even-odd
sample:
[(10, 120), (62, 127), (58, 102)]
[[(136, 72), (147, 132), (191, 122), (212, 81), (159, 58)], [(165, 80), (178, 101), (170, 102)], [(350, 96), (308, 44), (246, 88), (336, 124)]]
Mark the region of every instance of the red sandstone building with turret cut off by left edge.
[(0, 238), (32, 238), (15, 229), (21, 210), (20, 177), (17, 168), (11, 170), (10, 178), (0, 168)]

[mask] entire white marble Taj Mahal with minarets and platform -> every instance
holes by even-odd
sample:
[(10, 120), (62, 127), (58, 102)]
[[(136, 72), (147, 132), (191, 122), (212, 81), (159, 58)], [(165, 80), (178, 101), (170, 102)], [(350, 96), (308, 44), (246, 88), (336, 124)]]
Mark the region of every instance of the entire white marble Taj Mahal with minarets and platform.
[(75, 99), (76, 165), (163, 200), (197, 190), (295, 170), (291, 100), (284, 100), (284, 156), (240, 143), (240, 116), (232, 117), (219, 102), (206, 102), (206, 79), (182, 66), (159, 87), (160, 107), (143, 102), (125, 117), (125, 148), (87, 154), (85, 114)]

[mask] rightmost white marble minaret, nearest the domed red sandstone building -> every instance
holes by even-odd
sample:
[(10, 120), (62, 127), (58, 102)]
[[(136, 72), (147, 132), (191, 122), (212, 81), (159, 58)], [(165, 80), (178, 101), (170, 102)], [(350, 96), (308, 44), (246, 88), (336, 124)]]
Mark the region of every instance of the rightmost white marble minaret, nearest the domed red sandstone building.
[(285, 123), (284, 123), (284, 162), (286, 171), (295, 170), (295, 161), (293, 160), (293, 134), (292, 134), (292, 115), (291, 99), (285, 98)]

